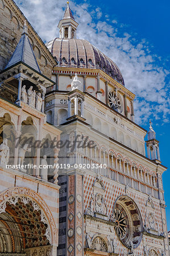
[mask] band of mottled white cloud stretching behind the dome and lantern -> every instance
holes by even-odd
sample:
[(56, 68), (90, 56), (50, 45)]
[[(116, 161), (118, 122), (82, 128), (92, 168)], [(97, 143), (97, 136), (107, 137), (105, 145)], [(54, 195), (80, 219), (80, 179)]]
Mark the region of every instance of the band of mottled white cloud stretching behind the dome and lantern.
[[(44, 42), (59, 35), (57, 24), (63, 18), (65, 0), (16, 0), (16, 3)], [(126, 87), (136, 94), (135, 121), (141, 124), (155, 118), (167, 122), (170, 102), (165, 80), (169, 72), (161, 67), (161, 57), (151, 54), (152, 47), (146, 39), (138, 42), (126, 32), (128, 25), (118, 24), (117, 20), (111, 24), (98, 20), (102, 16), (99, 7), (74, 2), (70, 6), (79, 23), (78, 38), (88, 40), (113, 59), (122, 71)], [(124, 34), (120, 36), (122, 30)]]

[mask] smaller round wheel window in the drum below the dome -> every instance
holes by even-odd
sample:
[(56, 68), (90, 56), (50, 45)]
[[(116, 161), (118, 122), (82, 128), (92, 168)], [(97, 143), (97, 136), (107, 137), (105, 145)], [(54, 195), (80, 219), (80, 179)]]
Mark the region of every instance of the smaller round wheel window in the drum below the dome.
[(112, 109), (122, 112), (123, 104), (121, 97), (114, 90), (109, 92), (109, 104)]

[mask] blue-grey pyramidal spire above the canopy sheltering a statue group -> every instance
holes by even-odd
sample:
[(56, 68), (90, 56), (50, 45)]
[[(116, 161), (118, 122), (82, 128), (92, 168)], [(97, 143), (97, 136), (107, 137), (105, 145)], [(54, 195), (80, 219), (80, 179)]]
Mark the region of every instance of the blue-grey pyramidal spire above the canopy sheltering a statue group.
[(30, 68), (35, 69), (35, 71), (40, 72), (39, 65), (36, 61), (36, 57), (34, 55), (30, 40), (27, 34), (27, 23), (26, 20), (24, 21), (23, 32), (22, 36), (19, 40), (18, 45), (15, 48), (9, 63), (6, 65), (6, 68), (10, 68), (19, 62), (23, 62), (24, 64), (28, 65)]

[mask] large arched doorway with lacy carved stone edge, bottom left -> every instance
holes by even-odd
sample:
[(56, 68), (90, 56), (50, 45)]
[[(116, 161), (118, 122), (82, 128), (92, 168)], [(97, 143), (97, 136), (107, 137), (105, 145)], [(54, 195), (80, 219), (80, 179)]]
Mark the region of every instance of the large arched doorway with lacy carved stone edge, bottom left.
[(15, 187), (1, 193), (0, 201), (0, 253), (53, 255), (57, 233), (43, 199), (32, 189)]

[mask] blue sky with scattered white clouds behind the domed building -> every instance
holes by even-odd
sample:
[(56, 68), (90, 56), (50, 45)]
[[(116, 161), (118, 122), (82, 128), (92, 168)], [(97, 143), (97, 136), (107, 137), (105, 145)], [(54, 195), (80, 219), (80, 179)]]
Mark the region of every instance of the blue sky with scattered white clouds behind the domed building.
[[(57, 24), (67, 1), (15, 0), (42, 40), (59, 36)], [(78, 22), (77, 38), (86, 39), (121, 69), (125, 86), (136, 94), (135, 122), (148, 130), (152, 120), (160, 157), (169, 166), (170, 1), (74, 0), (69, 5)], [(146, 138), (147, 140), (147, 138)], [(170, 171), (163, 174), (170, 230)]]

